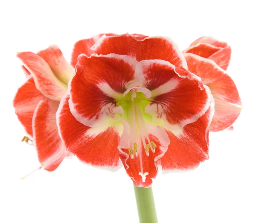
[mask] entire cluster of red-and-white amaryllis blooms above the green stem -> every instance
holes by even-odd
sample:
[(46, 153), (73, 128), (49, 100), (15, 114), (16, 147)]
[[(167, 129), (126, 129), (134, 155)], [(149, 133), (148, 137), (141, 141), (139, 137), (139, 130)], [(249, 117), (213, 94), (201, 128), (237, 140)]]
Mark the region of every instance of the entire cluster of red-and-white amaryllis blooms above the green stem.
[(123, 165), (149, 187), (159, 167), (197, 167), (209, 158), (209, 131), (232, 128), (241, 100), (225, 71), (230, 54), (212, 37), (181, 52), (167, 37), (140, 34), (80, 40), (71, 63), (57, 46), (22, 52), (27, 80), (15, 112), (44, 169), (74, 154), (101, 168)]

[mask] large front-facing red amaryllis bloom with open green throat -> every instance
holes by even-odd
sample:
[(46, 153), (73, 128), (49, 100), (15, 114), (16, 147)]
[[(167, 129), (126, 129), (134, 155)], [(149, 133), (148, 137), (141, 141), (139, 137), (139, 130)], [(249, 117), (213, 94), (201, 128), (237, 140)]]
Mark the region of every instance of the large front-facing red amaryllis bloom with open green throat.
[(191, 169), (208, 158), (212, 96), (172, 40), (104, 35), (92, 49), (107, 55), (78, 57), (57, 112), (68, 151), (111, 170), (121, 159), (139, 187), (158, 165)]

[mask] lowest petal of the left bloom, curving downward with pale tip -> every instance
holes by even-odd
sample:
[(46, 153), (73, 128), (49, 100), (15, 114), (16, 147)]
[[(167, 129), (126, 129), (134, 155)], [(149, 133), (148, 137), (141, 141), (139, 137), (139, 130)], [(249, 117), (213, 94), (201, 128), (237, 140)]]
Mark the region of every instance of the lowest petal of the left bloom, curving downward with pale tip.
[(56, 111), (59, 101), (41, 100), (33, 115), (33, 134), (38, 160), (47, 171), (54, 171), (65, 157), (65, 146), (58, 134)]

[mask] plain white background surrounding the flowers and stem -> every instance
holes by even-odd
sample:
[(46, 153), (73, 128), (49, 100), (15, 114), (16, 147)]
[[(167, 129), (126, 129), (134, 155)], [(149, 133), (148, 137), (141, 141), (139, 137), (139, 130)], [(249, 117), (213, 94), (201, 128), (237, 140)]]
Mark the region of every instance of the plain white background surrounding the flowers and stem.
[(210, 159), (183, 174), (158, 174), (153, 183), (159, 223), (255, 223), (255, 6), (242, 1), (1, 1), (1, 223), (138, 223), (132, 181), (124, 169), (106, 172), (66, 159), (19, 180), (38, 163), (12, 100), (26, 80), (17, 51), (57, 44), (67, 60), (73, 44), (94, 34), (171, 37), (185, 49), (201, 36), (228, 42), (228, 74), (244, 109), (233, 132), (210, 134)]

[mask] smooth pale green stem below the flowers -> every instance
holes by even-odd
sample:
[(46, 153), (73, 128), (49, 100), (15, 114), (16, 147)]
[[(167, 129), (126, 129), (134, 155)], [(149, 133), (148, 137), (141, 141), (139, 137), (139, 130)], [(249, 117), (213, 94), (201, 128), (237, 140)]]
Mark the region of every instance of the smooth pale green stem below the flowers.
[(157, 223), (152, 187), (144, 188), (134, 185), (140, 223)]

